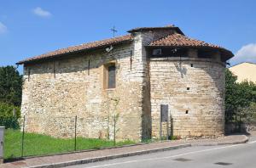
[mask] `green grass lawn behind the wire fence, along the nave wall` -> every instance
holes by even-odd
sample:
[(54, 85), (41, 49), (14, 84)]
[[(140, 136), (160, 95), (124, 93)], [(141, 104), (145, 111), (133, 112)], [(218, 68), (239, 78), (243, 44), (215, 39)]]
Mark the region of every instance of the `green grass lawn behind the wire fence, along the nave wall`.
[[(4, 136), (4, 158), (18, 158), (21, 156), (21, 137), (20, 130), (8, 129)], [(116, 146), (132, 144), (132, 141), (116, 143)], [(77, 150), (112, 147), (113, 141), (92, 138), (77, 138)], [(25, 133), (24, 138), (24, 156), (58, 154), (74, 151), (74, 139), (62, 139), (49, 137), (36, 133)]]

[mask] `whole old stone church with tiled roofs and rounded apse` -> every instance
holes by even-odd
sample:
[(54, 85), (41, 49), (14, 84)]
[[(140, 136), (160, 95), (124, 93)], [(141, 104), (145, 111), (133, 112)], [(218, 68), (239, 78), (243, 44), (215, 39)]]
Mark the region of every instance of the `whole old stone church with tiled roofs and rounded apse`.
[(168, 25), (22, 60), (26, 132), (71, 137), (77, 116), (78, 136), (111, 138), (118, 115), (118, 139), (222, 135), (232, 57)]

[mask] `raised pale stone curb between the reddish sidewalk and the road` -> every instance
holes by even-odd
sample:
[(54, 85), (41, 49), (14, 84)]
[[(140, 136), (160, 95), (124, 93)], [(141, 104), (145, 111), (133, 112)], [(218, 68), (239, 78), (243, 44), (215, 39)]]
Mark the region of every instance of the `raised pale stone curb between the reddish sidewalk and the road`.
[(30, 168), (59, 168), (59, 167), (66, 167), (71, 165), (82, 165), (82, 164), (88, 164), (88, 163), (93, 163), (97, 161), (113, 160), (113, 159), (124, 158), (124, 157), (135, 156), (135, 155), (142, 155), (142, 154), (152, 154), (152, 153), (163, 152), (163, 151), (173, 150), (177, 148), (187, 148), (187, 147), (191, 147), (191, 144), (186, 143), (186, 144), (170, 146), (165, 148), (154, 148), (154, 149), (136, 151), (131, 153), (113, 154), (113, 155), (84, 159), (84, 160), (72, 160), (67, 162), (53, 163), (48, 165), (34, 165), (34, 166), (30, 166)]

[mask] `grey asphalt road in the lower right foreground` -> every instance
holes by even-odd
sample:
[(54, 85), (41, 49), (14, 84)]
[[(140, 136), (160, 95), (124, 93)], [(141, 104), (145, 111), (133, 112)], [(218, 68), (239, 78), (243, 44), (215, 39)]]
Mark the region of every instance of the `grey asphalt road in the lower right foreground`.
[(132, 156), (116, 160), (108, 160), (85, 165), (75, 165), (69, 168), (208, 168), (235, 167), (256, 168), (256, 137), (251, 137), (249, 143), (190, 147), (176, 150)]

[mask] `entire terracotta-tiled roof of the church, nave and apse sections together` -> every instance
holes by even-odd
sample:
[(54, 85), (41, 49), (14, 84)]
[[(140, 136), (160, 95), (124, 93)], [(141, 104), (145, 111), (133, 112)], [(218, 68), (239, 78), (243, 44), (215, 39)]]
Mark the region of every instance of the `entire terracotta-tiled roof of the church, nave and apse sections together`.
[[(234, 56), (233, 53), (231, 53), (229, 50), (225, 48), (222, 48), (207, 42), (195, 40), (195, 39), (189, 38), (188, 36), (184, 36), (183, 32), (175, 25), (167, 25), (164, 27), (139, 27), (139, 28), (131, 29), (131, 31), (128, 31), (128, 32), (133, 33), (137, 31), (155, 31), (155, 30), (157, 31), (174, 30), (177, 33), (162, 37), (159, 40), (151, 42), (150, 44), (148, 44), (148, 47), (183, 47), (183, 48), (191, 47), (191, 48), (213, 48), (213, 49), (215, 48), (220, 50), (226, 59), (230, 59), (231, 57)], [(78, 53), (82, 51), (93, 50), (96, 48), (104, 48), (104, 47), (108, 47), (109, 45), (116, 45), (120, 43), (131, 42), (132, 40), (133, 40), (133, 36), (131, 34), (128, 34), (125, 36), (117, 36), (117, 37), (105, 39), (102, 41), (84, 43), (84, 44), (72, 46), (69, 48), (61, 48), (53, 52), (44, 53), (29, 59), (21, 60), (16, 64), (26, 64), (26, 63), (31, 63), (38, 60), (43, 60), (43, 59), (57, 58), (63, 55), (67, 55), (69, 53)]]

